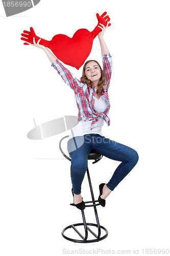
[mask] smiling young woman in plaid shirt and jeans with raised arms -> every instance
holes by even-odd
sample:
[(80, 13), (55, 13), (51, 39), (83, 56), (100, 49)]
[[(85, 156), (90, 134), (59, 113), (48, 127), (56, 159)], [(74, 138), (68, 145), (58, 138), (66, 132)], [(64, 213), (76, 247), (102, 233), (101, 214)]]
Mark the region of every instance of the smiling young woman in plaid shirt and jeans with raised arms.
[[(56, 59), (56, 57), (42, 45), (40, 40), (35, 47), (41, 48), (52, 62), (65, 83), (75, 92), (79, 110), (79, 123), (71, 129), (67, 149), (71, 157), (71, 182), (74, 204), (79, 209), (85, 208), (81, 197), (81, 184), (87, 169), (88, 154), (93, 148), (95, 152), (110, 159), (120, 161), (110, 181), (99, 186), (99, 203), (104, 207), (105, 199), (136, 165), (138, 154), (132, 148), (105, 138), (102, 134), (104, 121), (110, 125), (107, 114), (110, 109), (108, 89), (112, 71), (112, 58), (104, 41), (104, 32), (108, 27), (100, 24), (99, 41), (103, 58), (103, 70), (95, 60), (89, 60), (83, 67), (81, 80), (72, 77), (72, 74)], [(31, 44), (30, 44), (31, 45)]]

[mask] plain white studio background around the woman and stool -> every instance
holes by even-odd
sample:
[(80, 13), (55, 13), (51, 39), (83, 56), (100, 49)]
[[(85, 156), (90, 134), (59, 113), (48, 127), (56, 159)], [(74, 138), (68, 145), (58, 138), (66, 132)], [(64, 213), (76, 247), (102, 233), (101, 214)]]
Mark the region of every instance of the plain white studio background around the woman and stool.
[[(169, 1), (41, 0), (11, 17), (5, 16), (2, 3), (0, 8), (1, 255), (53, 256), (62, 255), (63, 249), (67, 254), (98, 249), (98, 255), (99, 249), (105, 254), (107, 250), (133, 254), (139, 249), (142, 254), (142, 248), (169, 248)], [(75, 244), (61, 236), (64, 227), (82, 222), (81, 212), (69, 205), (70, 162), (59, 150), (60, 139), (69, 131), (40, 141), (27, 138), (33, 118), (38, 125), (78, 115), (74, 92), (40, 49), (23, 46), (20, 34), (32, 26), (47, 40), (60, 33), (72, 37), (80, 28), (92, 31), (95, 14), (104, 11), (111, 17), (105, 40), (113, 74), (111, 124), (104, 125), (103, 134), (134, 148), (139, 161), (107, 198), (106, 207), (98, 207), (108, 238)], [(89, 59), (101, 63), (98, 37)], [(68, 68), (81, 77), (82, 68)], [(96, 199), (99, 184), (109, 181), (118, 164), (107, 158), (89, 163)], [(90, 199), (87, 177), (82, 196), (84, 201)], [(95, 221), (91, 210), (85, 209), (87, 222)]]

